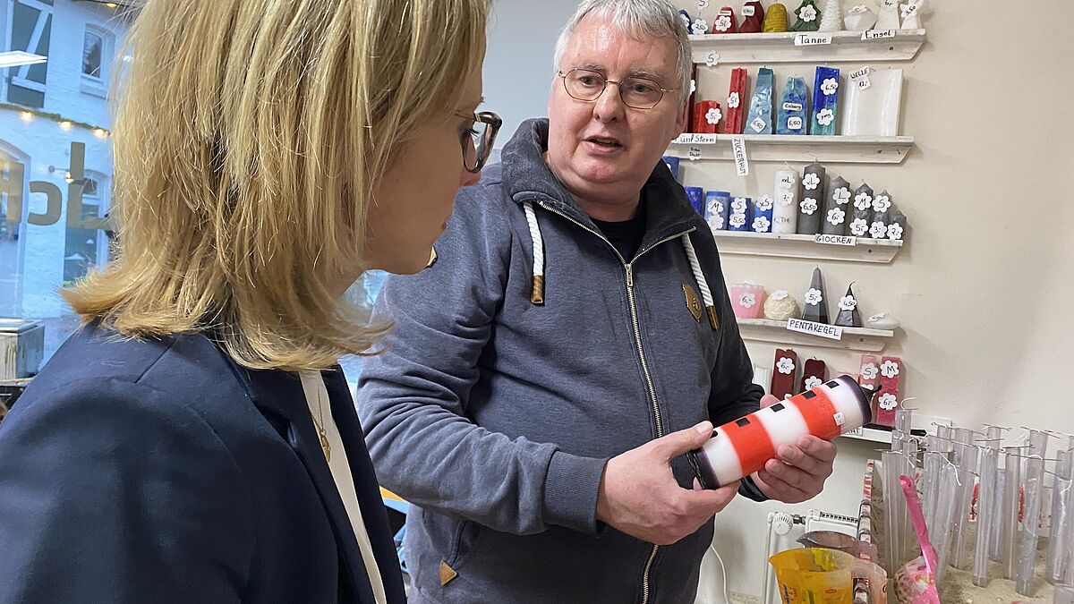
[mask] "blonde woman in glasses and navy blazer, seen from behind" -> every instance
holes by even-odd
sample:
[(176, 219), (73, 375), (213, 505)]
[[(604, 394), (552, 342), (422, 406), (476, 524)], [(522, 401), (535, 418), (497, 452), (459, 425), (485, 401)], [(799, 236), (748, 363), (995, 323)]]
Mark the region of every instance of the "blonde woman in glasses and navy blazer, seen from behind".
[(145, 3), (118, 257), (0, 425), (0, 602), (405, 601), (335, 364), (384, 328), (340, 296), (424, 268), (476, 182), (488, 11)]

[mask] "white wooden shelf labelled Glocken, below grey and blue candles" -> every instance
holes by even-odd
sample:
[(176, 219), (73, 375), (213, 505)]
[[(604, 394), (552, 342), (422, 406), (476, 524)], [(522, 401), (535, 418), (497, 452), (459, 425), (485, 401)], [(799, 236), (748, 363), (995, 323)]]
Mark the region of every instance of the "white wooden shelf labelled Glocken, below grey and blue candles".
[(879, 262), (886, 264), (902, 249), (902, 241), (886, 239), (845, 238), (855, 245), (818, 243), (817, 235), (753, 233), (748, 231), (712, 231), (720, 254), (736, 256), (768, 256), (845, 262)]

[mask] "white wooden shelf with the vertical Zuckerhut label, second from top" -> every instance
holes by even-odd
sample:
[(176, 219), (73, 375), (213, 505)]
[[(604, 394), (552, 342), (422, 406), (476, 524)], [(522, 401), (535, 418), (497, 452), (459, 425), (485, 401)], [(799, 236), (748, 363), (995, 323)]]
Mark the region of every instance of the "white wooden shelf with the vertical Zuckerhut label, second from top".
[(812, 134), (682, 134), (667, 153), (688, 160), (691, 147), (698, 160), (734, 161), (731, 139), (745, 141), (750, 161), (812, 163), (902, 163), (914, 148), (913, 136), (819, 136)]

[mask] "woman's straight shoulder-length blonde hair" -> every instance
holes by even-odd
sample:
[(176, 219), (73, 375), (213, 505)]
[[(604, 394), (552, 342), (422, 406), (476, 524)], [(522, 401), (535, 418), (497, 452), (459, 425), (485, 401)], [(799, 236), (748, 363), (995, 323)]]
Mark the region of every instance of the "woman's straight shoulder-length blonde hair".
[[(212, 332), (320, 369), (384, 327), (330, 291), (412, 133), (445, 119), (489, 0), (148, 0), (114, 129), (117, 257), (64, 291), (124, 335)], [(357, 265), (355, 265), (357, 264)]]

